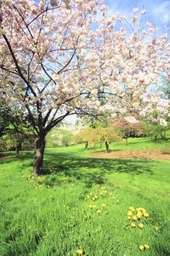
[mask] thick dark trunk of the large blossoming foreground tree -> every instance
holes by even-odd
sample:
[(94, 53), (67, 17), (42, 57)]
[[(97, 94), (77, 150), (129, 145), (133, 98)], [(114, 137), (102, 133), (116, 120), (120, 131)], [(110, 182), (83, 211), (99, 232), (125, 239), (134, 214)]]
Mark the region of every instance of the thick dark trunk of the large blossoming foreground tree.
[(38, 138), (36, 141), (36, 149), (34, 151), (33, 171), (34, 175), (43, 173), (43, 157), (45, 152), (45, 138)]

